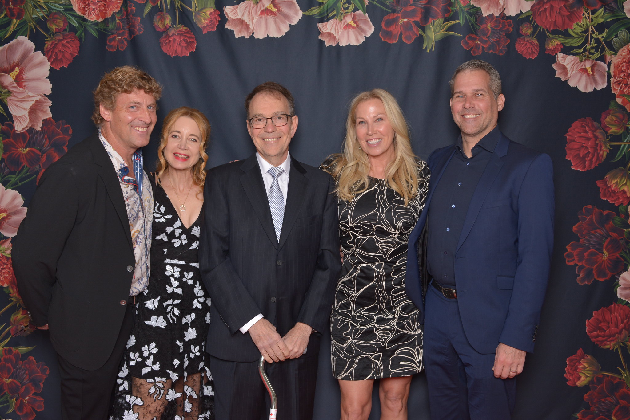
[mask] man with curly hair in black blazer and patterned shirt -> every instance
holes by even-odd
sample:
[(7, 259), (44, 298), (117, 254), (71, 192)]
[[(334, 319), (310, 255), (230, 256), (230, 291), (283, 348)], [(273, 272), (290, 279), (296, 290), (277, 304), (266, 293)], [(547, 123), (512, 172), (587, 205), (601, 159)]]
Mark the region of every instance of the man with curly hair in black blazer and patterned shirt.
[[(43, 174), (13, 245), (31, 326), (50, 329), (64, 420), (105, 420), (149, 279), (153, 197), (140, 147), (162, 88), (135, 67), (94, 91), (96, 133)], [(49, 328), (50, 326), (50, 328)]]

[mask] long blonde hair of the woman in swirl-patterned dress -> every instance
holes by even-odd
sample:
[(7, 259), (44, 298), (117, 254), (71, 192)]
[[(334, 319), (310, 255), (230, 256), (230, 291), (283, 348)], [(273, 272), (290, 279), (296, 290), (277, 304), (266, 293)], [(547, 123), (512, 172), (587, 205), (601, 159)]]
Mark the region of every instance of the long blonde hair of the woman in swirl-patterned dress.
[(403, 111), (391, 93), (384, 89), (372, 89), (359, 93), (350, 103), (350, 111), (346, 120), (346, 137), (343, 140), (343, 152), (329, 156), (332, 159), (330, 172), (337, 188), (335, 192), (346, 201), (352, 201), (356, 195), (369, 187), (368, 173), (370, 161), (367, 154), (360, 150), (357, 140), (356, 116), (357, 106), (369, 99), (379, 99), (385, 108), (387, 120), (394, 130), (395, 156), (387, 165), (385, 175), (389, 188), (404, 198), (404, 205), (418, 193), (417, 157), (411, 150), (409, 128)]

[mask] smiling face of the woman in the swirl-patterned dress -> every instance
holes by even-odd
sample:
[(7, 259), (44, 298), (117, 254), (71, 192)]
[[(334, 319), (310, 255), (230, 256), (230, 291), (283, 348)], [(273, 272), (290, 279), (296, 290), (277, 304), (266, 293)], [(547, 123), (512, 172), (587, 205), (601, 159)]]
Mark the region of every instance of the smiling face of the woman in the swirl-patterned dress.
[(369, 159), (394, 159), (394, 128), (387, 119), (381, 99), (363, 101), (355, 109), (355, 130), (358, 144)]

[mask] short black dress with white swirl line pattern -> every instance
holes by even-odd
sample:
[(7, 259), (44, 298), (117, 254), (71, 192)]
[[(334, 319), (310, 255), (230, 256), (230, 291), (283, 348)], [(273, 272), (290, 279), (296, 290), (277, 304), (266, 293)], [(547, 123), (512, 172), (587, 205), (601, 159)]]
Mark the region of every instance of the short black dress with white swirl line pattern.
[(418, 175), (418, 193), (408, 205), (379, 178), (370, 178), (354, 200), (338, 201), (343, 268), (331, 314), (338, 379), (403, 377), (423, 369), (418, 309), (404, 287), (409, 235), (428, 192), (425, 162), (418, 162)]

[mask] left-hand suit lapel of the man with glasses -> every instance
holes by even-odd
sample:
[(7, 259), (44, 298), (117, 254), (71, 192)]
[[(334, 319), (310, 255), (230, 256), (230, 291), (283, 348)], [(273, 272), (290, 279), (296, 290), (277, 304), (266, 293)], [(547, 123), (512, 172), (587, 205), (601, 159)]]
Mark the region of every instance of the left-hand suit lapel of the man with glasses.
[[(253, 207), (256, 216), (260, 219), (260, 224), (263, 225), (263, 229), (265, 229), (265, 233), (273, 246), (278, 247), (278, 240), (276, 239), (275, 229), (273, 228), (272, 213), (269, 210), (269, 200), (265, 191), (265, 183), (260, 173), (260, 166), (258, 166), (256, 154), (245, 159), (241, 169), (244, 171), (244, 174), (241, 175), (241, 184), (251, 203), (251, 207)], [(285, 210), (285, 218), (286, 214), (287, 212)]]

